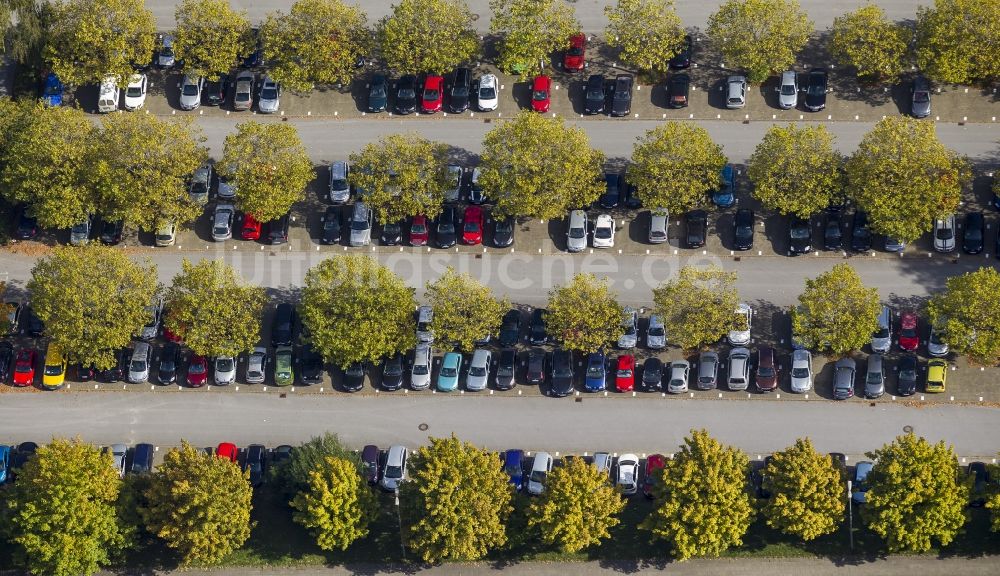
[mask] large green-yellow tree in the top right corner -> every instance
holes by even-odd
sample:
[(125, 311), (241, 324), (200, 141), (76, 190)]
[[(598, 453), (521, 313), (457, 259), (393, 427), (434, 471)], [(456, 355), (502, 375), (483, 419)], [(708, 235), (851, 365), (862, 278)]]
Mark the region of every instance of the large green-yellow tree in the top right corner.
[(1000, 4), (934, 0), (917, 8), (917, 66), (938, 82), (967, 84), (1000, 76)]

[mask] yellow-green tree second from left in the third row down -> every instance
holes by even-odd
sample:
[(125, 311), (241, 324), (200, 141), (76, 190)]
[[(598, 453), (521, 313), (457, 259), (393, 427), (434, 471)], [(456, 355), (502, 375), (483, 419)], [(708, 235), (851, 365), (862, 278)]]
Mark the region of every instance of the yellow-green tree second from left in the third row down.
[(260, 340), (267, 297), (222, 260), (186, 258), (167, 289), (164, 320), (192, 352), (209, 358), (249, 352)]

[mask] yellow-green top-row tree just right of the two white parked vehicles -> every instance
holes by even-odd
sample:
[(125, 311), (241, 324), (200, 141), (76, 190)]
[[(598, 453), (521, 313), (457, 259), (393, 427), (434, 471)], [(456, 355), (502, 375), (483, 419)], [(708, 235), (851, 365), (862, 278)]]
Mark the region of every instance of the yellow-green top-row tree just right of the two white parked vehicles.
[(246, 12), (229, 0), (181, 0), (174, 21), (174, 55), (186, 74), (217, 79), (254, 49)]

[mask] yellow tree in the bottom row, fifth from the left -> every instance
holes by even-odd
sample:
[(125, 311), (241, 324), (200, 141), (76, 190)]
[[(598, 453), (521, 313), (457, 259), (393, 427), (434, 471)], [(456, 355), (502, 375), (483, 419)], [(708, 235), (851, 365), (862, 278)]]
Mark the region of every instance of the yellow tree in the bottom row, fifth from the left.
[(624, 509), (608, 473), (573, 458), (545, 480), (545, 492), (528, 507), (528, 526), (541, 531), (542, 542), (572, 554), (610, 538)]

